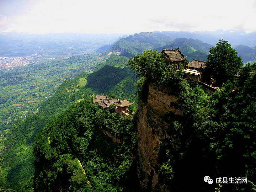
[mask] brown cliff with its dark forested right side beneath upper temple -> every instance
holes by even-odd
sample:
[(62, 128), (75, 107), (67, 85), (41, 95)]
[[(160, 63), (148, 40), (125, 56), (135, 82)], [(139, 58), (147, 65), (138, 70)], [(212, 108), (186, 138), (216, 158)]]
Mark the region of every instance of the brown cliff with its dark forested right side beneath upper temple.
[[(220, 41), (217, 51), (220, 44), (227, 45)], [(209, 185), (203, 177), (214, 181), (226, 175), (235, 181), (234, 175), (239, 175), (255, 183), (256, 63), (246, 65), (239, 75), (234, 73), (213, 95), (184, 79), (175, 67), (166, 68), (158, 52), (145, 51), (131, 58), (129, 65), (142, 76), (137, 116), (141, 188), (251, 191), (249, 182)], [(184, 173), (189, 178), (186, 185)]]

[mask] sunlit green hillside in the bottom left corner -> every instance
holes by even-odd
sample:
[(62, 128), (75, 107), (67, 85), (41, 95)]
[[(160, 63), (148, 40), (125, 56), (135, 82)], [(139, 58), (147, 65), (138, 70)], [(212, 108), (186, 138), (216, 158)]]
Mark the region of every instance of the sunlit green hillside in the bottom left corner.
[(33, 176), (34, 137), (45, 124), (43, 118), (33, 115), (12, 125), (0, 153), (0, 185), (17, 190)]

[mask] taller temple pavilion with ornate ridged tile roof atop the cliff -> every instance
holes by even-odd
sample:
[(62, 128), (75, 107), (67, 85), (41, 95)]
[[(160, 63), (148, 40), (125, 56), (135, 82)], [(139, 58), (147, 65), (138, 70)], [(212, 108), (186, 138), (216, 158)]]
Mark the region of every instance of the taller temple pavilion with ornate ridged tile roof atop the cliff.
[(180, 48), (163, 49), (161, 53), (165, 59), (167, 66), (171, 64), (176, 64), (176, 68), (179, 69), (181, 65), (183, 66), (183, 68), (185, 68), (185, 65), (188, 64), (188, 61), (180, 52)]

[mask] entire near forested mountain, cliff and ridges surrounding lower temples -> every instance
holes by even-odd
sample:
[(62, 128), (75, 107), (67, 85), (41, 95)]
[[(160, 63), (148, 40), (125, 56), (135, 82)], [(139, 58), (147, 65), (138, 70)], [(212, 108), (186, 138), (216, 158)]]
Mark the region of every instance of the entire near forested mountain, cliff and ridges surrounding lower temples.
[[(199, 55), (200, 50), (194, 51), (186, 39), (178, 39), (178, 43)], [(166, 68), (161, 54), (150, 54), (136, 61), (145, 61), (144, 65), (135, 67), (134, 58), (126, 67), (127, 57), (110, 54), (94, 73), (65, 80), (54, 96), (42, 103), (38, 116), (17, 121), (4, 147), (15, 158), (0, 157), (1, 164), (4, 162), (0, 185), (13, 185), (18, 190), (34, 186), (38, 191), (133, 191), (140, 182), (145, 190), (187, 191), (197, 187), (198, 191), (209, 191), (211, 185), (198, 183), (201, 175), (240, 174), (255, 180), (255, 64), (247, 65), (222, 90), (209, 96), (178, 71)], [(160, 62), (151, 63), (156, 60)], [(113, 108), (104, 111), (92, 105), (92, 95), (96, 94), (137, 103), (137, 91), (139, 110), (133, 118), (121, 118)], [(166, 106), (171, 110), (164, 111)], [(31, 146), (39, 129), (33, 182)], [(21, 142), (13, 139), (23, 138), (23, 132), (28, 138)], [(244, 143), (241, 148), (238, 140)], [(204, 169), (198, 169), (201, 166)], [(186, 186), (182, 182), (184, 172), (191, 178)], [(127, 183), (135, 183), (134, 188)], [(224, 186), (222, 191), (234, 191), (233, 187)], [(249, 190), (249, 185), (235, 187)]]

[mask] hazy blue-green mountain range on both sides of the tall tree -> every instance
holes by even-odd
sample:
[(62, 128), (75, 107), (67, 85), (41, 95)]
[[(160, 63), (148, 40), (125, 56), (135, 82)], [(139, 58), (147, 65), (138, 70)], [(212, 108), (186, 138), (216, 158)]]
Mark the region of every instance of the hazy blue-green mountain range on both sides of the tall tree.
[[(229, 32), (230, 33), (230, 32)], [(193, 36), (193, 37), (199, 37), (199, 33), (189, 33), (189, 32), (142, 32), (142, 33), (135, 33), (134, 35), (130, 35), (126, 38), (119, 39), (116, 43), (114, 43), (109, 51), (113, 52), (120, 52), (121, 56), (125, 57), (134, 57), (135, 55), (142, 53), (144, 50), (157, 49), (159, 52), (163, 48), (177, 48), (179, 47), (181, 52), (187, 57), (187, 60), (192, 61), (193, 59), (198, 60), (206, 60), (207, 55), (209, 54), (209, 50), (211, 47), (214, 47), (214, 45), (218, 42), (218, 38), (212, 37), (212, 39), (215, 39), (209, 41), (209, 36), (207, 38), (207, 35), (204, 34), (201, 37), (201, 39), (205, 38), (208, 39), (208, 42), (212, 42), (212, 44), (204, 43), (202, 40), (199, 39), (192, 39), (192, 38), (176, 38), (174, 37), (178, 36)], [(224, 37), (227, 36), (226, 33), (224, 33)], [(245, 37), (246, 34), (243, 36)], [(256, 36), (256, 33), (255, 33)], [(234, 36), (230, 36), (234, 38)], [(248, 38), (251, 38), (250, 44), (252, 44), (253, 37), (250, 33), (250, 36), (246, 36)], [(224, 38), (225, 39), (225, 38)], [(229, 40), (229, 39), (227, 39)], [(238, 41), (237, 41), (238, 42)], [(256, 44), (256, 42), (255, 42)], [(249, 62), (254, 61), (256, 57), (256, 47), (250, 47), (245, 45), (239, 45), (239, 46), (233, 46), (239, 56), (242, 57), (243, 62)]]

